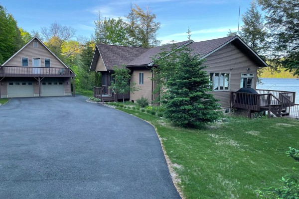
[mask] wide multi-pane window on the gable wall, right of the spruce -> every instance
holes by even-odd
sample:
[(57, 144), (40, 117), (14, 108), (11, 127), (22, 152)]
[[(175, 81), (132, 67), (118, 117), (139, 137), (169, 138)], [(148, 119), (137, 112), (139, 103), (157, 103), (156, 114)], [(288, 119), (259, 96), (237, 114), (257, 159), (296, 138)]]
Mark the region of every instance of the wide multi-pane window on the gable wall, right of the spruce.
[(210, 81), (213, 91), (229, 91), (229, 73), (210, 73)]

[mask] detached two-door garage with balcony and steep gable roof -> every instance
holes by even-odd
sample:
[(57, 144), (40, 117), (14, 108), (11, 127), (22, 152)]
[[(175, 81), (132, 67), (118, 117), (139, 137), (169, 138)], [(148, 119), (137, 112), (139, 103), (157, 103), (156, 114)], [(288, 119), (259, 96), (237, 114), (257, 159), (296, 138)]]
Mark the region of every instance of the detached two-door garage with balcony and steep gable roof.
[(0, 66), (0, 98), (71, 96), (74, 78), (35, 36)]

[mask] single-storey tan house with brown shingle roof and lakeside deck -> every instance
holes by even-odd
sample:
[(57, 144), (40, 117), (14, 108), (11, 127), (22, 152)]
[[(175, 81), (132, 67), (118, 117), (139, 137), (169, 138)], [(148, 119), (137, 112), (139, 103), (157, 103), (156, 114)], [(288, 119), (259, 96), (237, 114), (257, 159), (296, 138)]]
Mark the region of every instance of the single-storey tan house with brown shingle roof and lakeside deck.
[[(142, 47), (128, 47), (128, 46), (113, 46), (98, 44), (95, 47), (93, 60), (91, 63), (90, 71), (100, 72), (102, 74), (102, 87), (94, 88), (94, 96), (100, 98), (103, 101), (119, 100), (123, 96), (115, 95), (109, 86), (111, 85), (111, 74), (113, 73), (114, 66), (126, 65), (131, 69), (132, 76), (131, 82), (135, 82), (139, 91), (131, 92), (125, 95), (127, 100), (136, 101), (142, 97), (147, 98), (149, 101), (155, 100), (158, 94), (153, 94), (155, 84), (152, 81), (153, 65), (152, 57), (158, 55), (163, 50), (171, 50), (173, 44), (164, 46), (142, 48)], [(196, 54), (199, 54), (202, 59), (205, 59), (204, 63), (208, 66), (207, 71), (210, 80), (213, 84), (213, 94), (216, 99), (219, 99), (219, 103), (224, 112), (230, 112), (232, 107), (244, 108), (249, 110), (249, 115), (252, 112), (263, 111), (269, 108), (266, 104), (261, 103), (252, 107), (246, 106), (246, 103), (237, 103), (238, 100), (236, 92), (240, 88), (252, 88), (260, 93), (260, 96), (256, 101), (265, 99), (270, 103), (280, 100), (280, 95), (287, 95), (290, 103), (295, 103), (295, 93), (289, 92), (272, 92), (257, 90), (257, 70), (259, 67), (267, 67), (267, 63), (257, 55), (239, 36), (224, 37), (219, 39), (212, 39), (201, 42), (194, 42), (192, 40), (175, 43), (176, 48), (182, 46), (190, 47)], [(268, 94), (264, 95), (265, 93)], [(250, 95), (244, 94), (245, 98), (251, 98)], [(262, 96), (264, 95), (264, 96)], [(237, 101), (236, 101), (237, 98)], [(239, 98), (240, 99), (240, 98)], [(248, 99), (247, 99), (248, 100)], [(277, 101), (275, 103), (279, 103)], [(244, 101), (244, 100), (242, 100)], [(246, 101), (246, 99), (245, 99)], [(271, 101), (271, 102), (270, 102)], [(238, 105), (239, 104), (239, 105)], [(247, 104), (248, 105), (248, 104)], [(289, 106), (290, 107), (290, 106)], [(263, 109), (264, 108), (264, 109)], [(273, 107), (271, 107), (273, 108)], [(275, 112), (277, 110), (273, 110)], [(281, 115), (281, 114), (280, 114)]]

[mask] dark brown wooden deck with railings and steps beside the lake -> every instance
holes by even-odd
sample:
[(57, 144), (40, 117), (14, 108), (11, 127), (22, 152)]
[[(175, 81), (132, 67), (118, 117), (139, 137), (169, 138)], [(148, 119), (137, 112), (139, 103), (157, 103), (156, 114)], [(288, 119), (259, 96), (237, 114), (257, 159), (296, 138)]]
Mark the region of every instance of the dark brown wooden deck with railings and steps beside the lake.
[(258, 94), (231, 92), (231, 107), (253, 112), (266, 112), (268, 117), (299, 118), (299, 104), (295, 103), (296, 92), (257, 90)]

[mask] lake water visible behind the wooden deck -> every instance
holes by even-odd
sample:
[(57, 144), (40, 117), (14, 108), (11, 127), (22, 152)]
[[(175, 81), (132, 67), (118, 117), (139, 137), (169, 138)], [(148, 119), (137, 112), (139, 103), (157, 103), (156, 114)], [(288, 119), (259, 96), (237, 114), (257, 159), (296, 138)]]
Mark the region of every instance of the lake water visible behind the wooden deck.
[(292, 91), (296, 92), (296, 103), (299, 103), (299, 80), (287, 78), (262, 78), (263, 85), (257, 85), (257, 89)]

